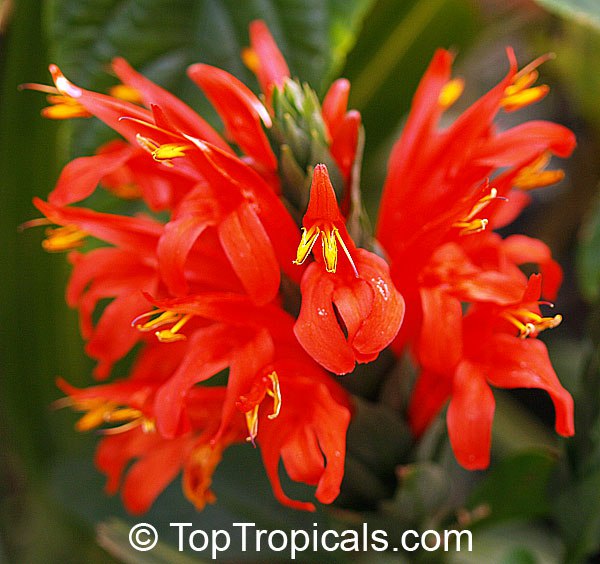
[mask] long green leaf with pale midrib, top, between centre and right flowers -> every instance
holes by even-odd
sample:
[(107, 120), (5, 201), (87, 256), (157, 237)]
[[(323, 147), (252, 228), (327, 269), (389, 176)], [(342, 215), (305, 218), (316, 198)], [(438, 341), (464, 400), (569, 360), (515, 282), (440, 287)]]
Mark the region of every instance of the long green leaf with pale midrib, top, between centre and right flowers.
[[(352, 83), (350, 107), (365, 126), (368, 204), (378, 201), (389, 150), (386, 142), (408, 112), (418, 82), (439, 47), (460, 56), (477, 35), (478, 12), (464, 0), (378, 0), (365, 19), (343, 76)], [(383, 157), (382, 157), (383, 155)]]

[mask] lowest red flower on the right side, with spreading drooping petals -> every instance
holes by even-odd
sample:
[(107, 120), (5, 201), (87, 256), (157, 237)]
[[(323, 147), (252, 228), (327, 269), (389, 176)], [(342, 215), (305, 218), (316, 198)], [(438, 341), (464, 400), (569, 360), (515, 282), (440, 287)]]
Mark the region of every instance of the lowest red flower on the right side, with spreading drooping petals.
[(422, 433), (450, 398), (448, 434), (465, 468), (489, 464), (495, 406), (490, 384), (546, 390), (556, 409), (557, 433), (574, 433), (571, 395), (560, 385), (545, 345), (535, 338), (561, 321), (559, 315), (540, 315), (540, 293), (541, 276), (533, 275), (520, 299), (478, 304), (463, 318), (458, 299), (437, 288), (421, 291), (422, 372), (411, 400), (411, 424)]

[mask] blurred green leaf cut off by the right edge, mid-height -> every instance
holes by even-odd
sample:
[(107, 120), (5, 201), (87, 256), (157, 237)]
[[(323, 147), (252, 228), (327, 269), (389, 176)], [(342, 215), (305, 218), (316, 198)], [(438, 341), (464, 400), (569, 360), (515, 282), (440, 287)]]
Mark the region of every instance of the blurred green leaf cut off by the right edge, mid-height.
[(600, 300), (600, 198), (579, 232), (577, 271), (581, 293), (590, 302)]

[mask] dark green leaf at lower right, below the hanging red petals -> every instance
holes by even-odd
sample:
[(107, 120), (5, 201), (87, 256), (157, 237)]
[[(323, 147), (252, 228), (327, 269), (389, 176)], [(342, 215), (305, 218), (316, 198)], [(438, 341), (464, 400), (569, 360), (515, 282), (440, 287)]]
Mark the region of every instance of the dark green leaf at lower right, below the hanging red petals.
[(486, 522), (543, 516), (550, 510), (548, 480), (555, 465), (545, 452), (505, 458), (474, 489), (468, 505), (487, 507)]

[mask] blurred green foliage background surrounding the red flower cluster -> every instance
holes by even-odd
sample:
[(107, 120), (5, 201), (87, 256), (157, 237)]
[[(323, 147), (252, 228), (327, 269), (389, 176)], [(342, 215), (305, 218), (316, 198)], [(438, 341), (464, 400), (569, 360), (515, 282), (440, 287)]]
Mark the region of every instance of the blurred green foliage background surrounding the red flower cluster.
[[(186, 80), (185, 67), (198, 61), (218, 65), (256, 90), (239, 54), (248, 43), (248, 22), (257, 17), (269, 24), (292, 73), (320, 94), (337, 76), (352, 81), (351, 107), (362, 112), (366, 129), (362, 186), (371, 214), (389, 148), (435, 48), (457, 54), (456, 73), (467, 81), (459, 108), (506, 72), (506, 45), (515, 47), (522, 64), (547, 51), (556, 53), (541, 69), (552, 86), (551, 96), (520, 119), (543, 116), (571, 127), (578, 149), (566, 164), (567, 180), (536, 193), (535, 205), (517, 229), (546, 241), (566, 270), (557, 300), (565, 322), (548, 342), (561, 380), (575, 395), (577, 436), (568, 445), (554, 438), (545, 397), (501, 396), (494, 434), (502, 460), (477, 477), (475, 489), (474, 479), (453, 466), (446, 451), (428, 451), (427, 445), (416, 456), (428, 458), (436, 452), (429, 456), (435, 462), (411, 466), (414, 479), (402, 485), (393, 481), (390, 489), (389, 480), (376, 474), (387, 465), (393, 477), (398, 464), (415, 460), (415, 452), (406, 439), (394, 442), (378, 434), (374, 422), (381, 418), (385, 428), (400, 429), (399, 437), (405, 436), (405, 426), (397, 414), (369, 404), (351, 429), (355, 446), (350, 447), (342, 496), (345, 512), (323, 511), (314, 517), (278, 508), (256, 453), (244, 451), (226, 457), (217, 474), (216, 508), (195, 516), (176, 484), (148, 521), (201, 519), (208, 527), (246, 516), (266, 526), (283, 520), (298, 528), (310, 527), (315, 519), (370, 519), (400, 529), (428, 523), (440, 508), (444, 517), (434, 524), (455, 522), (461, 509), (477, 521), (474, 510), (487, 504), (496, 509), (496, 517), (475, 523), (474, 553), (412, 555), (407, 561), (545, 563), (591, 558), (600, 550), (597, 0), (0, 0), (0, 562), (190, 558), (167, 546), (145, 559), (128, 552), (123, 525), (127, 516), (118, 500), (103, 496), (102, 477), (91, 462), (96, 437), (77, 435), (74, 415), (52, 409), (60, 397), (55, 377), (89, 384), (91, 363), (83, 355), (76, 314), (64, 304), (64, 257), (41, 250), (39, 230), (19, 232), (18, 226), (36, 217), (32, 197), (48, 194), (68, 159), (90, 154), (110, 132), (86, 120), (46, 121), (39, 115), (43, 96), (17, 87), (47, 84), (47, 66), (53, 61), (74, 82), (105, 90), (114, 83), (106, 74), (107, 62), (121, 55), (214, 120), (206, 100)], [(361, 452), (361, 441), (372, 448)], [(545, 450), (531, 451), (532, 445)], [(385, 459), (381, 451), (397, 456)], [(244, 484), (236, 475), (240, 463), (253, 465)], [(450, 503), (443, 494), (449, 483), (454, 492), (460, 490)], [(359, 513), (357, 499), (372, 503)], [(110, 520), (115, 516), (117, 521)], [(389, 560), (386, 555), (378, 558)], [(394, 555), (389, 561), (400, 558)]]

